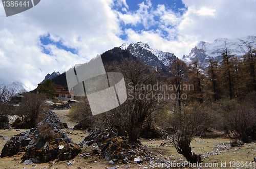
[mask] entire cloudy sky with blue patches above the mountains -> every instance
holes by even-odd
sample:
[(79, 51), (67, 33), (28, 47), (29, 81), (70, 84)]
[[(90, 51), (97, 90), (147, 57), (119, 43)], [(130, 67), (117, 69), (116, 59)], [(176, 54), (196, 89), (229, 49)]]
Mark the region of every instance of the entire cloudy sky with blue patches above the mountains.
[(182, 58), (200, 41), (256, 36), (255, 0), (41, 0), (6, 17), (0, 4), (0, 84), (34, 89), (47, 73), (142, 41)]

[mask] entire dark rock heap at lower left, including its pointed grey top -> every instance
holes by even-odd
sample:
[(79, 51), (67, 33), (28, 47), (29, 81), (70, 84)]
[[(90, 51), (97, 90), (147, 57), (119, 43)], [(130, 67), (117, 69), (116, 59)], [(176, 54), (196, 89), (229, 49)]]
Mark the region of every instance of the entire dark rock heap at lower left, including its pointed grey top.
[(18, 152), (25, 152), (22, 162), (34, 163), (48, 162), (52, 160), (70, 160), (81, 149), (72, 142), (63, 128), (63, 123), (53, 111), (45, 111), (46, 118), (32, 128), (14, 135), (5, 144), (1, 157), (13, 156)]

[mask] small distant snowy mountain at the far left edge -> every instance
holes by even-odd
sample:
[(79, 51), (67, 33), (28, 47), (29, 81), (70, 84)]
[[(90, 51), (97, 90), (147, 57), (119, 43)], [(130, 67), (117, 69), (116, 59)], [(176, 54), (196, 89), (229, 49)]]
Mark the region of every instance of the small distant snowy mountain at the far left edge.
[(0, 85), (0, 97), (2, 100), (10, 100), (18, 93), (24, 93), (29, 91), (31, 91), (31, 89), (26, 87), (22, 82), (19, 81), (14, 81), (9, 85)]

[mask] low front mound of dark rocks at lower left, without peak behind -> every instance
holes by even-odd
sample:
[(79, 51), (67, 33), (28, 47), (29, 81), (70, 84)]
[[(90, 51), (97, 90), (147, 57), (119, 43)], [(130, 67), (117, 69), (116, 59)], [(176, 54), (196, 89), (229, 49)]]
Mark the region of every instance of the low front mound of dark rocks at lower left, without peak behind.
[(22, 157), (23, 162), (30, 159), (38, 163), (55, 159), (70, 160), (80, 153), (80, 147), (73, 143), (66, 133), (55, 128), (51, 134), (53, 137), (45, 141), (41, 139), (41, 133), (36, 128), (14, 135), (5, 144), (1, 157), (25, 152)]

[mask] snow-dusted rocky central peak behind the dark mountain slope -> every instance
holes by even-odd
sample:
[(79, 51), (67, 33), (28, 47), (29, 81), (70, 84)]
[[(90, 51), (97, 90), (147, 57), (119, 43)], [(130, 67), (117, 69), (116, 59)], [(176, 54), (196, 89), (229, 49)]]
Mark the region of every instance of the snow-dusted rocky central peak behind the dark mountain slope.
[(163, 52), (150, 48), (147, 43), (137, 42), (132, 44), (124, 43), (120, 46), (122, 50), (129, 50), (140, 61), (151, 65), (152, 67), (161, 67), (166, 70), (166, 67), (173, 63), (176, 59), (174, 53)]

